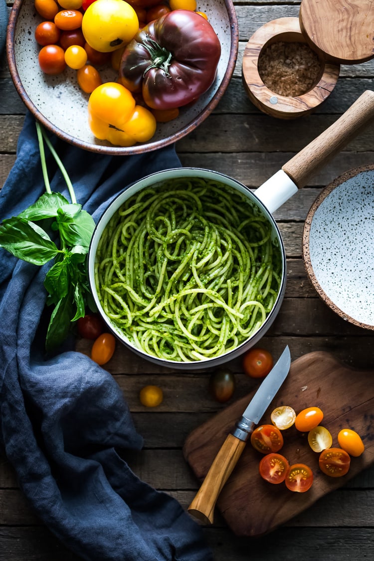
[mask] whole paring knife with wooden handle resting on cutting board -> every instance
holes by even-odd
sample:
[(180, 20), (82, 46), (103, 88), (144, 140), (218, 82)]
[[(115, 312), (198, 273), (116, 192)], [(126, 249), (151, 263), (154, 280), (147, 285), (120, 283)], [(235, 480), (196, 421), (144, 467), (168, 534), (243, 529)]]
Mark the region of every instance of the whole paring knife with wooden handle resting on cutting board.
[(287, 377), (290, 365), (291, 355), (287, 346), (214, 458), (200, 489), (188, 507), (188, 512), (202, 522), (213, 524), (216, 500), (236, 466), (255, 425)]

